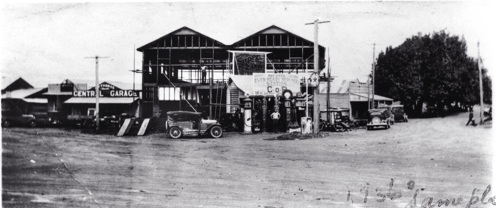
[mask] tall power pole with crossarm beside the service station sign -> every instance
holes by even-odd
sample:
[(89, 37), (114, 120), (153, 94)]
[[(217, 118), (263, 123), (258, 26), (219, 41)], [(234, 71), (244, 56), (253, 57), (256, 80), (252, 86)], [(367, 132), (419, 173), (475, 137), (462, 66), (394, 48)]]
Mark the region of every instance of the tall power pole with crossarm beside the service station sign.
[[(325, 22), (330, 22), (330, 21), (325, 21)], [(325, 23), (325, 22), (319, 22), (318, 19), (313, 21), (312, 23), (307, 23), (306, 25), (313, 24), (313, 71), (314, 72), (319, 72), (319, 63), (318, 63), (318, 23)], [(316, 71), (315, 71), (316, 70)], [(320, 82), (319, 82), (320, 83)], [(313, 133), (318, 133), (320, 130), (319, 128), (319, 106), (318, 106), (318, 85), (317, 87), (313, 88)]]

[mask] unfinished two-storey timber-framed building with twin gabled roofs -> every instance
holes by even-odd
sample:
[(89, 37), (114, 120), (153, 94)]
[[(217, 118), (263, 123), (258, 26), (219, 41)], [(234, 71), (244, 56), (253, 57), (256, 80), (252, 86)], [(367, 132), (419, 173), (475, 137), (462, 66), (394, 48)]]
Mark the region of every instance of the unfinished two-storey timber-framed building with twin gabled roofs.
[[(137, 51), (143, 54), (142, 117), (164, 118), (167, 111), (194, 108), (203, 117), (218, 119), (227, 110), (228, 75), (249, 75), (233, 70), (229, 51), (266, 52), (268, 73), (314, 71), (313, 42), (274, 25), (232, 44), (182, 27)], [(325, 65), (324, 54), (319, 46), (319, 69)], [(205, 79), (202, 64), (208, 67)]]

